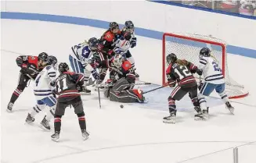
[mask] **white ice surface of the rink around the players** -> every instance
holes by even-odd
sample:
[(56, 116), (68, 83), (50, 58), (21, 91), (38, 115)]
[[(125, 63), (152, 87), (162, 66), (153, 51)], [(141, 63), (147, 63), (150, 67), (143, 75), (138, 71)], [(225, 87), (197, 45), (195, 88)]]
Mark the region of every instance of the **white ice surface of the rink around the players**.
[[(52, 132), (38, 127), (43, 112), (36, 117), (34, 125), (25, 125), (27, 112), (35, 104), (33, 82), (16, 101), (13, 112), (5, 112), (19, 76), (15, 59), (20, 54), (38, 55), (46, 51), (59, 62), (68, 62), (70, 46), (89, 37), (100, 37), (105, 30), (29, 20), (1, 21), (2, 163), (232, 163), (234, 147), (238, 147), (239, 162), (256, 162), (256, 143), (252, 143), (256, 141), (256, 78), (252, 75), (255, 58), (228, 55), (230, 76), (250, 92), (245, 98), (233, 100), (235, 115), (229, 114), (222, 101), (210, 97), (209, 120), (196, 122), (189, 97), (185, 97), (177, 102), (176, 124), (165, 124), (162, 118), (168, 115), (171, 88), (147, 94), (148, 104), (124, 104), (124, 108), (119, 107), (120, 103), (107, 101), (101, 92), (101, 109), (98, 94), (92, 91), (92, 95), (82, 97), (89, 139), (81, 140), (77, 116), (67, 108), (60, 141), (55, 143), (50, 139)], [(138, 40), (139, 46), (145, 49), (149, 48), (147, 42), (161, 46), (159, 40), (146, 37)], [(150, 47), (148, 51), (160, 52), (154, 49)], [(135, 60), (141, 53), (136, 48), (132, 50)], [(158, 62), (148, 64), (160, 67), (156, 65)], [(140, 76), (144, 75), (141, 72), (146, 66), (137, 66)], [(157, 86), (142, 87), (142, 90), (153, 87)]]

